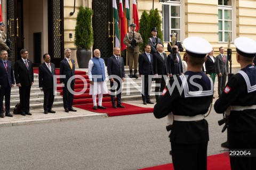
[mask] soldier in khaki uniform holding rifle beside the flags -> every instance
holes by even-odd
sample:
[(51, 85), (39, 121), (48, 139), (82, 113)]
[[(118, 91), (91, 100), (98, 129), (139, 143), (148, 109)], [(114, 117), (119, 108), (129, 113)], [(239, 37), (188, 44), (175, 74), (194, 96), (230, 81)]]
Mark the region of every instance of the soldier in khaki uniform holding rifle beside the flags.
[[(135, 32), (136, 30), (136, 24), (132, 23), (130, 24), (131, 32), (127, 32), (126, 36), (124, 37), (124, 44), (127, 46), (126, 51), (128, 55), (128, 61), (129, 61), (129, 70), (130, 70), (130, 78), (136, 78), (137, 76), (137, 70), (138, 70), (138, 59), (139, 59), (139, 52), (140, 47), (139, 45), (143, 43), (143, 40), (141, 38), (141, 35), (139, 32)], [(132, 73), (132, 65), (134, 62), (134, 73)]]

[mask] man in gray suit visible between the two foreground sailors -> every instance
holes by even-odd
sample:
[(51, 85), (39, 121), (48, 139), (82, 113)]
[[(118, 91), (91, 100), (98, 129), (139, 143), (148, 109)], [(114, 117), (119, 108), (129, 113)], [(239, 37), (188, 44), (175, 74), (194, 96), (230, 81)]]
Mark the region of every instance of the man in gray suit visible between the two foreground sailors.
[(216, 57), (216, 63), (217, 63), (217, 74), (218, 74), (218, 95), (220, 97), (226, 85), (226, 79), (229, 73), (229, 68), (228, 68), (228, 57), (224, 54), (225, 49), (223, 47), (220, 47), (219, 50), (220, 50), (220, 54)]

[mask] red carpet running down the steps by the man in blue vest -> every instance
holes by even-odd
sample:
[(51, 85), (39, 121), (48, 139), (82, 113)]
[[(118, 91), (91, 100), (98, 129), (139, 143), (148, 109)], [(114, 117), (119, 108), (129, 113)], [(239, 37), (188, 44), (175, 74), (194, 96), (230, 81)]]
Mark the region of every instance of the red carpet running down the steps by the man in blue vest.
[[(57, 75), (59, 75), (60, 69), (55, 69), (55, 72)], [(34, 73), (38, 74), (38, 67), (34, 67)], [(73, 101), (74, 107), (85, 109), (86, 111), (91, 111), (91, 112), (107, 113), (108, 116), (121, 116), (121, 115), (153, 112), (153, 108), (138, 107), (138, 106), (133, 106), (125, 103), (122, 103), (122, 105), (125, 106), (125, 108), (112, 108), (110, 96), (108, 94), (103, 95), (103, 98), (102, 98), (102, 105), (107, 107), (107, 109), (93, 110), (92, 95), (89, 95), (90, 81), (88, 79), (88, 75), (86, 75), (86, 72), (84, 71), (75, 71), (75, 75), (76, 75), (75, 76), (76, 80), (75, 80), (74, 91), (81, 92), (84, 88), (86, 88), (86, 90), (83, 92), (83, 94), (74, 95), (74, 101)], [(81, 77), (83, 77), (86, 80), (87, 84), (84, 84), (84, 81), (80, 79)], [(57, 83), (60, 83), (59, 78), (57, 78)], [(60, 95), (62, 95), (63, 93), (62, 87), (57, 86), (57, 91), (59, 91)], [(98, 102), (98, 98), (97, 98), (97, 102)]]

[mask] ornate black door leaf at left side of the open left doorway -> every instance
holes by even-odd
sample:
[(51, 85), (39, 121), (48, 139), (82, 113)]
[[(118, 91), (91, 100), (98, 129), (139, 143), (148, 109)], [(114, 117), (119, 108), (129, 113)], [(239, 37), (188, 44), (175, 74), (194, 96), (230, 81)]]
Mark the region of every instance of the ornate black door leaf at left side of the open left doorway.
[(7, 38), (12, 41), (9, 60), (15, 62), (21, 58), (20, 50), (24, 48), (23, 35), (23, 0), (7, 1)]

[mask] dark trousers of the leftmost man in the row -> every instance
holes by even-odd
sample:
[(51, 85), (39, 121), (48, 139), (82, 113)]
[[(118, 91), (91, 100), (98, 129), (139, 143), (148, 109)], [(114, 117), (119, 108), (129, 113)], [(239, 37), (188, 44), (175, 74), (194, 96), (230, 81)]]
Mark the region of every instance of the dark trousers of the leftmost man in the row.
[(5, 98), (5, 114), (10, 113), (11, 87), (0, 88), (0, 114), (3, 114), (3, 100)]

